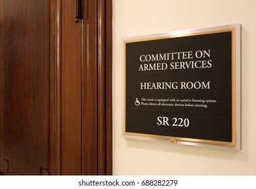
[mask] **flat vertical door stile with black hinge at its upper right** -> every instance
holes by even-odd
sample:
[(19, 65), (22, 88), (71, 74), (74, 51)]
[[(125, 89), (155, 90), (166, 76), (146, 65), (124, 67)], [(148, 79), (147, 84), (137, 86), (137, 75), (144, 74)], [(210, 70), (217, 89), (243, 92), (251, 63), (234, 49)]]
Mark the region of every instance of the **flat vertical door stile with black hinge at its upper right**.
[(75, 1), (61, 3), (61, 174), (81, 175), (82, 25)]

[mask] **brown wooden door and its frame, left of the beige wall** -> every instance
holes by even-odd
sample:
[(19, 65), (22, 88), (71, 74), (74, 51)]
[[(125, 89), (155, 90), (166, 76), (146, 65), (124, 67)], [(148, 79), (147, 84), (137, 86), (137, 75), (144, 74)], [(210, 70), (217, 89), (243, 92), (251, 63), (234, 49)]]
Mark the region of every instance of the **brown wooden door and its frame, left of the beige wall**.
[(2, 174), (111, 174), (111, 1), (75, 2), (0, 0)]

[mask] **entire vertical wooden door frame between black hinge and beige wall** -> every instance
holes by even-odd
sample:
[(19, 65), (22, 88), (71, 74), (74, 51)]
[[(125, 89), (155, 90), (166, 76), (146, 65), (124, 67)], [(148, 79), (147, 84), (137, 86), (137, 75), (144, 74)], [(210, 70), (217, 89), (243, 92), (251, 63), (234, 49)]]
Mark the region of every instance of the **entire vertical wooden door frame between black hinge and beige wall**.
[[(112, 1), (84, 1), (82, 174), (112, 174)], [(84, 35), (86, 34), (86, 35)]]

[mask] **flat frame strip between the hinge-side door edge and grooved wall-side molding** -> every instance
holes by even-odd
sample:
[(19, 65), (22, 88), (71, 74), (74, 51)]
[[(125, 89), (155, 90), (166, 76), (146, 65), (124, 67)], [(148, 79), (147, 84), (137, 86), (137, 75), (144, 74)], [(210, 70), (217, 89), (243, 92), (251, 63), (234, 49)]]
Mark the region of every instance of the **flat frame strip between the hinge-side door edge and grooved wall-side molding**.
[(82, 24), (82, 174), (97, 175), (97, 1), (84, 1)]

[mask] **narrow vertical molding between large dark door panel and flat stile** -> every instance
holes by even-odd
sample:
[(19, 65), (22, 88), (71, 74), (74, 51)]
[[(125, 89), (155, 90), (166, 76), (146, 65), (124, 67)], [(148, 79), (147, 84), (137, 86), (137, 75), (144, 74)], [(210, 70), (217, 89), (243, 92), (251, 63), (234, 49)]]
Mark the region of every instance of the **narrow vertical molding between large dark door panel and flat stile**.
[(61, 174), (61, 0), (50, 1), (50, 161), (51, 175)]

